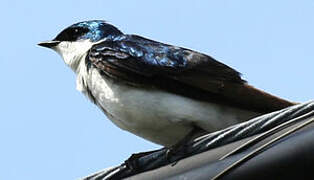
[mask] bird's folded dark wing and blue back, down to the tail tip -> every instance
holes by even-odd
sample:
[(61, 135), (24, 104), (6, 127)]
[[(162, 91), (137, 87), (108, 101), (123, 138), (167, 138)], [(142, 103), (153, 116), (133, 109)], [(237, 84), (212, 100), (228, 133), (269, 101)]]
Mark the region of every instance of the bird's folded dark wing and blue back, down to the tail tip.
[[(291, 105), (282, 100), (279, 103), (280, 99), (246, 85), (239, 72), (210, 56), (136, 35), (123, 35), (94, 45), (87, 60), (90, 66), (111, 78), (134, 85), (150, 84), (204, 101), (257, 112)], [(280, 105), (275, 107), (274, 103)]]

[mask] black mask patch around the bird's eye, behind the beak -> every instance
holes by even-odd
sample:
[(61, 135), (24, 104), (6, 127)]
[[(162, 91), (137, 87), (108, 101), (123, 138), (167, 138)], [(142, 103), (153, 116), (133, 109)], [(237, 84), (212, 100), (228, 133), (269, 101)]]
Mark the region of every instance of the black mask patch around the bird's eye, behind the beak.
[(76, 41), (81, 38), (82, 35), (84, 35), (86, 32), (88, 32), (87, 28), (82, 27), (75, 27), (75, 28), (67, 28), (64, 31), (62, 31), (55, 40), (58, 41)]

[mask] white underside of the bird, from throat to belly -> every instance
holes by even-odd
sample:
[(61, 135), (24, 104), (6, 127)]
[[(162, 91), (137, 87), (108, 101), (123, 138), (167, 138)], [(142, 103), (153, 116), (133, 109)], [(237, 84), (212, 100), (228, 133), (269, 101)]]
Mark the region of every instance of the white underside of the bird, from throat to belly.
[[(87, 45), (77, 47), (86, 48)], [(87, 95), (85, 85), (88, 85), (97, 105), (107, 112), (114, 124), (161, 145), (170, 146), (184, 138), (192, 124), (212, 132), (257, 115), (157, 89), (128, 86), (104, 78), (95, 68), (87, 73), (84, 53), (66, 52), (59, 50), (65, 62), (72, 69), (75, 67), (79, 91)]]

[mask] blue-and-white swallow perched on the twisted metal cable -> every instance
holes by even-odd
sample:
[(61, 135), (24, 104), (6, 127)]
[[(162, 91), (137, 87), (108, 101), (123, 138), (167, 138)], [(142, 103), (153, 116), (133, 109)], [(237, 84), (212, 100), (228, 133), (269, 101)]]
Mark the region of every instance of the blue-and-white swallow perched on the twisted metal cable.
[(77, 90), (116, 126), (165, 147), (295, 104), (209, 55), (104, 20), (75, 23), (38, 45), (61, 55)]

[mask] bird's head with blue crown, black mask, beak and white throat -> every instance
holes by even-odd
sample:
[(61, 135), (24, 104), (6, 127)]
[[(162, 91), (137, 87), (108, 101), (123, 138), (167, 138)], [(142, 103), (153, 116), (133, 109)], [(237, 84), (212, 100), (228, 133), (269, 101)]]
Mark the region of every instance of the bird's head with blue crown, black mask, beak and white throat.
[(83, 21), (67, 27), (53, 40), (41, 42), (38, 45), (58, 52), (65, 63), (75, 70), (79, 59), (93, 44), (119, 35), (122, 35), (122, 32), (105, 21)]

